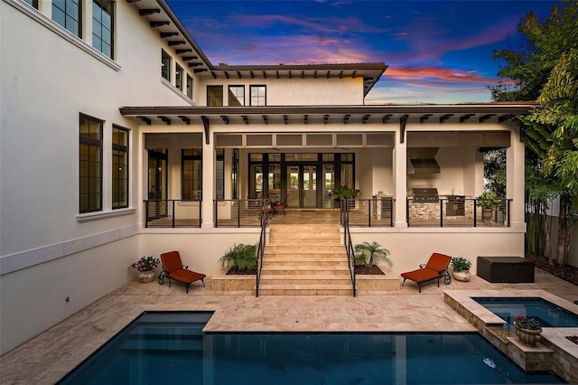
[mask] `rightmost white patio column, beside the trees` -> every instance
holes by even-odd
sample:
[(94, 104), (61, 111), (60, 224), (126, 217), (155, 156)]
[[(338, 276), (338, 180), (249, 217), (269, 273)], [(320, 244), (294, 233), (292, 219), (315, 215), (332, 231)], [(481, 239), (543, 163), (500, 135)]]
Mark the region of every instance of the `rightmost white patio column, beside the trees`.
[(520, 141), (518, 127), (511, 131), (510, 146), (506, 151), (506, 197), (511, 199), (509, 219), (512, 226), (524, 225), (526, 155)]

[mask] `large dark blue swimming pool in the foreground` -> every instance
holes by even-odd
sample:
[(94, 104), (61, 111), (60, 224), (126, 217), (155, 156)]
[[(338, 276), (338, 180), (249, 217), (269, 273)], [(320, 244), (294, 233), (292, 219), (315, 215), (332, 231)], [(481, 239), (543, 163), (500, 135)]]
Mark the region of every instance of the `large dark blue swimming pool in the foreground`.
[(210, 313), (145, 313), (62, 384), (563, 382), (478, 333), (203, 333)]

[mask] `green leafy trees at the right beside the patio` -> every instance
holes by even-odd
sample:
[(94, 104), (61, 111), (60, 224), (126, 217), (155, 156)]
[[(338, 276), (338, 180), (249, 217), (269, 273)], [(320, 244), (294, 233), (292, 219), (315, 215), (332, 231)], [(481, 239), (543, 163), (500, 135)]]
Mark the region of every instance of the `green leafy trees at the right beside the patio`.
[(490, 90), (494, 100), (540, 103), (530, 116), (519, 117), (533, 153), (527, 158), (535, 159), (537, 173), (527, 188), (530, 199), (541, 204), (560, 198), (555, 260), (564, 265), (570, 248), (568, 214), (578, 203), (578, 1), (554, 5), (544, 23), (529, 13), (517, 29), (527, 38), (526, 49), (494, 52), (495, 59), (508, 64), (498, 73), (503, 80)]

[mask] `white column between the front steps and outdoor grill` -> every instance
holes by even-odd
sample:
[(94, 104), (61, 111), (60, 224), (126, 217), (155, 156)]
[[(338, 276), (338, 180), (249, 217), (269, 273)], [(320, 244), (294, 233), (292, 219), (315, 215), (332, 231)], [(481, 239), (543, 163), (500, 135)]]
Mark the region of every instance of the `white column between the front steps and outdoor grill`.
[[(397, 134), (401, 135), (399, 132)], [(405, 136), (405, 135), (404, 135)], [(406, 202), (407, 202), (407, 141), (403, 137), (396, 137), (396, 146), (393, 152), (394, 173), (394, 227), (407, 227)]]

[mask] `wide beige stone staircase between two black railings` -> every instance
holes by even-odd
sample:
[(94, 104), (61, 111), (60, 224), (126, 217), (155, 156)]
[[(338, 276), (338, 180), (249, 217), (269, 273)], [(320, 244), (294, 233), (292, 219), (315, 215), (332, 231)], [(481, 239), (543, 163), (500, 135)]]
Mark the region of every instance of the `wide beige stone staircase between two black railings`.
[(259, 296), (352, 296), (337, 225), (271, 225)]

